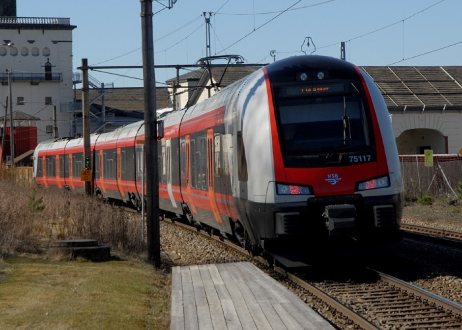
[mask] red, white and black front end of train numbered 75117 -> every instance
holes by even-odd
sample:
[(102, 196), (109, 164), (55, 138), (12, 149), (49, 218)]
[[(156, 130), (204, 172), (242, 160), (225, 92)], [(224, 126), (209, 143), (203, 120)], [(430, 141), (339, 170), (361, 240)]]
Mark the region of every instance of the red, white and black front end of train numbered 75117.
[(397, 239), (403, 183), (375, 83), (351, 63), (324, 56), (292, 57), (264, 70), (274, 182), (261, 235), (273, 239), (263, 241)]

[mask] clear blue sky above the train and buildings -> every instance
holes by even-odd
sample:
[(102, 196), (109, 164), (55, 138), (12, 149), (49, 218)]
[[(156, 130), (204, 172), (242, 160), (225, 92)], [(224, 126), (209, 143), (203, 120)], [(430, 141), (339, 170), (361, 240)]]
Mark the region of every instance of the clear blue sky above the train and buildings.
[[(313, 44), (314, 54), (340, 57), (345, 41), (346, 60), (357, 65), (462, 65), (461, 0), (177, 0), (163, 9), (167, 4), (152, 4), (158, 65), (205, 56), (203, 12), (212, 13), (211, 54), (238, 54), (248, 63), (272, 62), (273, 50), (276, 60), (309, 54)], [(89, 65), (142, 65), (140, 13), (139, 0), (17, 0), (19, 17), (68, 17), (77, 25), (75, 69), (82, 58)], [(127, 77), (90, 75), (115, 87), (143, 85), (141, 69), (105, 71)], [(155, 75), (164, 82), (175, 72)]]

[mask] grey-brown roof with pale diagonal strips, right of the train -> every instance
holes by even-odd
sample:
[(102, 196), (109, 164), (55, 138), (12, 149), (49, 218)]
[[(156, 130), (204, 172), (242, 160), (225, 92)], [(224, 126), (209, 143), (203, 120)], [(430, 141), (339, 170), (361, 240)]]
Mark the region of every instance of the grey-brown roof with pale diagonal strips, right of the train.
[(360, 66), (390, 111), (462, 111), (462, 66)]

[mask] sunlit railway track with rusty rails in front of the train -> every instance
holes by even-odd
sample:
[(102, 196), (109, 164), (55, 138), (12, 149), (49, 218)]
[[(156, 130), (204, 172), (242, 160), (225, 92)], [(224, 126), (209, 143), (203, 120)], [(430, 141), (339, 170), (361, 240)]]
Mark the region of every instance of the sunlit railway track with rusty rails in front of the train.
[[(198, 231), (240, 253), (248, 252), (221, 236), (188, 225), (175, 225)], [(286, 285), (296, 284), (312, 297), (318, 310), (329, 310), (334, 319), (355, 329), (462, 329), (462, 305), (451, 302), (415, 285), (372, 269), (366, 281), (312, 282), (306, 274), (272, 266), (261, 258), (253, 259), (265, 272)], [(282, 277), (282, 279), (281, 279)], [(370, 280), (374, 279), (374, 280)], [(292, 283), (292, 284), (290, 284)], [(300, 295), (300, 293), (299, 293)], [(336, 322), (335, 320), (331, 320)]]

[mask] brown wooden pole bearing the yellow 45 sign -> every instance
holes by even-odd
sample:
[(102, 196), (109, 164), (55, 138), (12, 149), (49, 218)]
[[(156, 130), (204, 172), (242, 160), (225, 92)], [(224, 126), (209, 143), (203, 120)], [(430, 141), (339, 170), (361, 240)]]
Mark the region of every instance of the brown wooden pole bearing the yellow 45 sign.
[[(91, 170), (90, 151), (90, 100), (88, 99), (88, 60), (82, 58), (82, 116), (84, 119), (84, 164)], [(87, 165), (88, 159), (88, 165)], [(85, 181), (85, 193), (91, 195), (91, 181)]]

